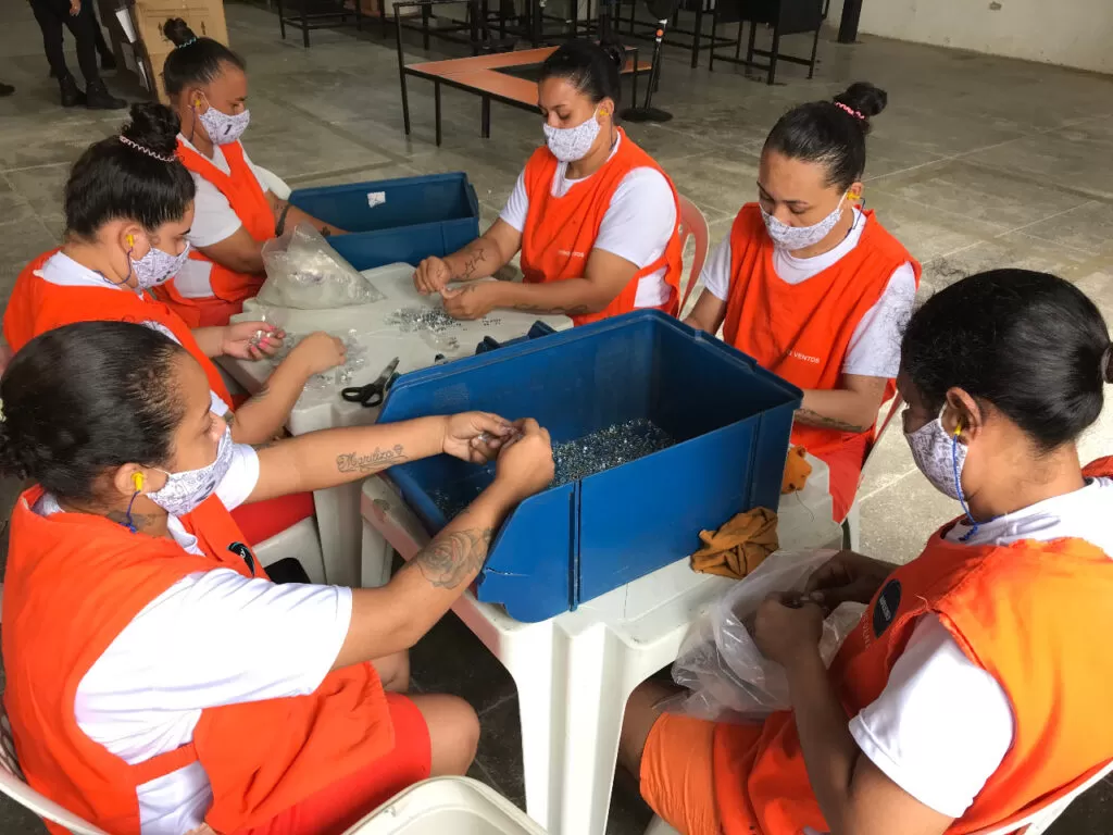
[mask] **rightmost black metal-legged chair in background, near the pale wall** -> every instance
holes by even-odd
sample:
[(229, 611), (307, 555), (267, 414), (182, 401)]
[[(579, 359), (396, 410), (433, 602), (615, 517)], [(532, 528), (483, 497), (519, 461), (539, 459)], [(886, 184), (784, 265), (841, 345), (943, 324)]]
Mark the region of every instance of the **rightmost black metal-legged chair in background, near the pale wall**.
[[(721, 55), (716, 48), (716, 35), (722, 23), (738, 23), (738, 39), (735, 42), (735, 55)], [(746, 58), (741, 57), (742, 29), (750, 24), (750, 37), (746, 47)], [(816, 73), (816, 52), (819, 49), (819, 28), (824, 22), (824, 0), (718, 0), (711, 23), (711, 43), (708, 69), (715, 69), (716, 60), (726, 61), (742, 67), (754, 67), (768, 72), (767, 82), (774, 84), (777, 78), (777, 62), (788, 61), (808, 68), (808, 78)], [(757, 27), (761, 23), (772, 29), (772, 43), (768, 50), (757, 49)], [(786, 35), (814, 32), (811, 40), (811, 57), (798, 58), (780, 53), (780, 39)], [(767, 59), (761, 63), (755, 56)]]

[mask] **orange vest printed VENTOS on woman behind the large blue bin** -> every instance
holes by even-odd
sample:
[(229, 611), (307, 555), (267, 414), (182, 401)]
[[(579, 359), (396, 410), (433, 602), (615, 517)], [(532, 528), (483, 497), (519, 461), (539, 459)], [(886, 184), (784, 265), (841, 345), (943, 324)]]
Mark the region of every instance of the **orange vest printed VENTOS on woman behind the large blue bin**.
[[(760, 208), (742, 206), (730, 230), (726, 341), (800, 389), (837, 389), (854, 332), (884, 294), (893, 273), (910, 263), (919, 284), (919, 263), (873, 212), (863, 214), (866, 227), (854, 249), (819, 275), (788, 284), (774, 269), (772, 240)], [(888, 400), (892, 381), (886, 391)], [(871, 439), (873, 428), (861, 433), (800, 423), (792, 428), (792, 443), (830, 468), (835, 521), (843, 521), (850, 510)]]

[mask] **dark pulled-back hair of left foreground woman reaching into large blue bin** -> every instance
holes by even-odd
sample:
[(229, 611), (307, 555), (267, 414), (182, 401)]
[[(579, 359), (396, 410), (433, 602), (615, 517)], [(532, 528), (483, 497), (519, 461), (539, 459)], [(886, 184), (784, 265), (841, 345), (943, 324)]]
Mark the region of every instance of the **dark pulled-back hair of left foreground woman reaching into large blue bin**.
[(185, 351), (144, 325), (80, 322), (31, 340), (0, 379), (0, 471), (57, 498), (93, 499), (106, 471), (171, 458)]

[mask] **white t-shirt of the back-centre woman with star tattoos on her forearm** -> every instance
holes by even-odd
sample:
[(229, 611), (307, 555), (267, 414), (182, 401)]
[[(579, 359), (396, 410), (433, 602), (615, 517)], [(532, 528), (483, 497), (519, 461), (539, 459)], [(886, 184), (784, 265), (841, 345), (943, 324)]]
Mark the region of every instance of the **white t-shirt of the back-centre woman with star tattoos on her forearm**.
[[(611, 157), (618, 151), (621, 141), (620, 136)], [(583, 181), (568, 179), (564, 176), (567, 171), (568, 163), (556, 164), (551, 191), (553, 197), (563, 197), (572, 186)], [(518, 175), (518, 183), (500, 217), (518, 232), (522, 232), (525, 228), (529, 210), (530, 196), (525, 193), (523, 171)], [(607, 207), (603, 220), (599, 225), (594, 248), (618, 255), (631, 264), (637, 264), (639, 269), (644, 269), (664, 255), (676, 227), (677, 205), (669, 181), (654, 168), (634, 168), (614, 189), (611, 205)], [(584, 256), (587, 264), (587, 254)], [(638, 282), (634, 307), (657, 307), (669, 301), (672, 291), (664, 283), (666, 272), (661, 268)]]

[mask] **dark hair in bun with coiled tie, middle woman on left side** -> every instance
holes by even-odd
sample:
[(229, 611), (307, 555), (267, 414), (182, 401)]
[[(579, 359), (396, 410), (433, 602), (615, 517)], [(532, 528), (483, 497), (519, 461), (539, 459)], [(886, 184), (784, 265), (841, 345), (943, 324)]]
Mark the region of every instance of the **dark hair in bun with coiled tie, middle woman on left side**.
[(178, 116), (170, 108), (132, 105), (131, 121), (119, 136), (89, 146), (70, 169), (65, 193), (67, 232), (92, 237), (106, 223), (120, 218), (145, 229), (180, 220), (196, 187), (175, 157), (177, 135)]

